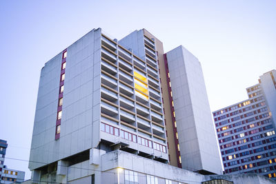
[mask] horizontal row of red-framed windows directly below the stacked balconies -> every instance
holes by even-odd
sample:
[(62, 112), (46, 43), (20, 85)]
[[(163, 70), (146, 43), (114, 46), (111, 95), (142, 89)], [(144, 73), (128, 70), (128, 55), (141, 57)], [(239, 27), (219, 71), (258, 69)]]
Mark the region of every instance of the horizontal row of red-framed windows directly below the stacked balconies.
[(115, 136), (120, 136), (123, 139), (127, 139), (129, 141), (138, 143), (140, 145), (144, 145), (146, 147), (154, 148), (155, 150), (158, 150), (159, 152), (164, 152), (164, 153), (167, 152), (166, 146), (164, 146), (164, 145), (161, 145), (161, 144), (155, 143), (155, 142), (153, 142), (153, 144), (152, 144), (152, 141), (150, 141), (148, 139), (144, 139), (141, 136), (137, 136), (130, 132), (126, 132), (125, 130), (119, 130), (119, 128), (113, 127), (106, 123), (101, 123), (101, 131), (106, 132), (108, 134), (115, 135)]

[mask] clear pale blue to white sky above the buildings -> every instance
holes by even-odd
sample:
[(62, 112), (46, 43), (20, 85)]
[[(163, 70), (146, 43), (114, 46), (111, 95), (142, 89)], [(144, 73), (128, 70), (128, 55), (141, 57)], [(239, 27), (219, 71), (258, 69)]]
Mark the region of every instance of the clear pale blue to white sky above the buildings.
[[(5, 165), (26, 171), (40, 70), (93, 28), (121, 39), (146, 28), (168, 52), (184, 45), (201, 61), (212, 111), (247, 98), (276, 69), (276, 1), (0, 2), (0, 139)], [(14, 158), (14, 159), (9, 159)]]

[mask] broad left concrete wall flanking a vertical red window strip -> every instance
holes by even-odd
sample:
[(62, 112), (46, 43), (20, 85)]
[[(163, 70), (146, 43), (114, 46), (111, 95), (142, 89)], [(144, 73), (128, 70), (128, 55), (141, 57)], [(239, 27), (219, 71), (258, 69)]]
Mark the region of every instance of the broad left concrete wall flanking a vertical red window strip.
[(61, 53), (41, 70), (34, 117), (30, 170), (99, 143), (101, 30), (92, 30), (67, 49), (60, 139), (55, 140)]

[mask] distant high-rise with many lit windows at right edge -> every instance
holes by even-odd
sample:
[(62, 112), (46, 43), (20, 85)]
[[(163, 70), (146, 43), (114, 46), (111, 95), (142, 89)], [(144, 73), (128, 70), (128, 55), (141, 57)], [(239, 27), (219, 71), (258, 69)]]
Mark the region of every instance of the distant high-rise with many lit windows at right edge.
[(246, 88), (248, 99), (213, 112), (226, 174), (276, 179), (276, 70)]

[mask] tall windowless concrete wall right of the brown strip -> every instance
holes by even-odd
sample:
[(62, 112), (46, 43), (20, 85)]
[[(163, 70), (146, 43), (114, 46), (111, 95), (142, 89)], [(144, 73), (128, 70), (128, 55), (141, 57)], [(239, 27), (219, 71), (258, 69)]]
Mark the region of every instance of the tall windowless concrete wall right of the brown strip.
[(182, 167), (221, 174), (215, 127), (198, 59), (183, 46), (167, 53)]

